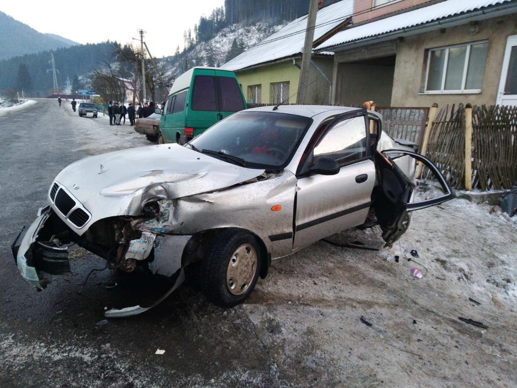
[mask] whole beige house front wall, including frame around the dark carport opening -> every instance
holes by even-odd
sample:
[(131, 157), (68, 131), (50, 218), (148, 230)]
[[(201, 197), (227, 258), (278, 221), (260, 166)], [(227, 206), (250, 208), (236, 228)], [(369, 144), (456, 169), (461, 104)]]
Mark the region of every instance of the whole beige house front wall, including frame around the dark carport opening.
[[(344, 78), (364, 78), (362, 69), (342, 66), (344, 63), (396, 54), (391, 106), (429, 107), (434, 102), (437, 102), (439, 106), (459, 102), (470, 102), (473, 105), (494, 105), (501, 77), (506, 40), (510, 35), (517, 35), (517, 18), (513, 14), (479, 21), (478, 25), (479, 29), (476, 34), (472, 34), (473, 26), (471, 24), (465, 24), (405, 37), (401, 41), (391, 40), (336, 52), (333, 73), (334, 84), (336, 84), (333, 93), (334, 103), (336, 105), (342, 105), (342, 101), (354, 103), (354, 99), (349, 99), (346, 94), (346, 87), (351, 86), (352, 81), (346, 81)], [(488, 40), (488, 47), (480, 93), (423, 93), (430, 49), (481, 40)], [(365, 87), (371, 87), (370, 80), (365, 81)], [(384, 86), (379, 84), (379, 87)], [(368, 99), (372, 98), (365, 100)], [(381, 105), (380, 102), (375, 102), (377, 105)]]

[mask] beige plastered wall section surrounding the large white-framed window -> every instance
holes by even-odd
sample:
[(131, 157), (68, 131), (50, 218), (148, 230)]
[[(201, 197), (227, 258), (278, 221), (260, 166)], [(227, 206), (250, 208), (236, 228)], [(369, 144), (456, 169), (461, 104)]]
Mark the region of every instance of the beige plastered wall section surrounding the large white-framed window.
[[(517, 34), (515, 15), (479, 22), (477, 34), (471, 34), (470, 24), (405, 38), (398, 43), (397, 63), (393, 79), (393, 106), (444, 106), (450, 103), (470, 102), (476, 105), (496, 103), (501, 67), (509, 35)], [(459, 43), (488, 40), (481, 93), (477, 94), (423, 94), (427, 71), (428, 50)]]

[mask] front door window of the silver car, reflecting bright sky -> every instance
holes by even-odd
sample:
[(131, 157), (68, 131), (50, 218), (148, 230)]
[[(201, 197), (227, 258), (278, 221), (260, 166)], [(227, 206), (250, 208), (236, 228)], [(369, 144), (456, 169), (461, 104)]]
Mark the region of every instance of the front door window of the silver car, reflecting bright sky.
[(340, 166), (367, 156), (367, 128), (364, 116), (346, 118), (332, 124), (314, 147), (313, 162), (321, 157), (336, 160)]

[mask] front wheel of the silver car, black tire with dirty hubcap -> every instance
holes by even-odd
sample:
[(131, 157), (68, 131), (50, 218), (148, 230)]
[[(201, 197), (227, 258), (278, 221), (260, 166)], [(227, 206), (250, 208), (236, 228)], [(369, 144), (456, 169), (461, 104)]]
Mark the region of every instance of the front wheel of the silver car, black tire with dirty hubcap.
[(241, 229), (225, 230), (201, 262), (203, 293), (221, 307), (238, 305), (255, 288), (263, 256), (256, 236)]

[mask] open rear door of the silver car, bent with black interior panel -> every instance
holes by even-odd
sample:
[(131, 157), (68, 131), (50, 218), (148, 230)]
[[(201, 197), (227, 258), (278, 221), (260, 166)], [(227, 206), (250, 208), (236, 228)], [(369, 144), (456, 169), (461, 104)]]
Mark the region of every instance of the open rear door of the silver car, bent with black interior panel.
[[(402, 159), (403, 158), (403, 159)], [(423, 163), (434, 175), (435, 180), (442, 186), (443, 195), (431, 199), (415, 201), (415, 182), (413, 177), (404, 174), (400, 165), (410, 163), (414, 171), (415, 160)], [(374, 192), (374, 206), (377, 221), (383, 230), (386, 246), (396, 242), (409, 227), (409, 212), (434, 206), (454, 198), (451, 188), (442, 173), (429, 159), (424, 156), (404, 150), (387, 150), (375, 154), (375, 165), (381, 185)]]

